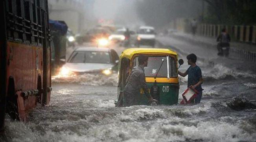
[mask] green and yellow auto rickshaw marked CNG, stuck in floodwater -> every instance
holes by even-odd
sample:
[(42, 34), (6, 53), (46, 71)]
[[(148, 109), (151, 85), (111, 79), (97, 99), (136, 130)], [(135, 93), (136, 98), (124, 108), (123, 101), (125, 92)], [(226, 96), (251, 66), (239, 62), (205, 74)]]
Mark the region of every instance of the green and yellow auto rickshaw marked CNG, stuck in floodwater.
[[(148, 92), (159, 104), (172, 105), (178, 103), (179, 75), (177, 53), (171, 49), (131, 48), (122, 52), (118, 65), (118, 101), (117, 107), (122, 106), (123, 89), (131, 69), (138, 65), (138, 56), (149, 56), (148, 65), (144, 68)], [(179, 60), (183, 64), (183, 60)], [(140, 89), (136, 95), (138, 105), (149, 105), (149, 100)]]

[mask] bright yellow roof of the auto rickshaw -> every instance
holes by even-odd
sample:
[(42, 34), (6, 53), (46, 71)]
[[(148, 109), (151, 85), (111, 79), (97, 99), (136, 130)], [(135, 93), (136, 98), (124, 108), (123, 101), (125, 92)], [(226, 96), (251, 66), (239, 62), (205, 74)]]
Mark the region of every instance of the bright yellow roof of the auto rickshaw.
[(122, 52), (120, 55), (120, 58), (133, 58), (134, 54), (171, 54), (177, 56), (177, 52), (171, 50), (171, 49), (155, 49), (155, 48), (130, 48), (126, 49)]

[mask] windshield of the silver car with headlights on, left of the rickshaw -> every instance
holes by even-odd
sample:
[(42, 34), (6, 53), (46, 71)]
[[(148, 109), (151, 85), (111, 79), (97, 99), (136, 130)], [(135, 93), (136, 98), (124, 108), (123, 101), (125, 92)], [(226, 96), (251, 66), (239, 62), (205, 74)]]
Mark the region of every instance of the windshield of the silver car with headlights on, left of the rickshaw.
[(73, 52), (69, 63), (111, 63), (109, 52), (76, 51)]

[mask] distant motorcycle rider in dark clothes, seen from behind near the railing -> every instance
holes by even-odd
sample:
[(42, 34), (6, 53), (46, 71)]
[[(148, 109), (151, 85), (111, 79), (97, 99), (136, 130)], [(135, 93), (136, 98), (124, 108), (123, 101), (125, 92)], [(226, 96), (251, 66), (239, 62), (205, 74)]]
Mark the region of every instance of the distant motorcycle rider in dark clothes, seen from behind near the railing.
[(223, 54), (222, 47), (227, 47), (227, 50), (229, 51), (230, 36), (225, 28), (221, 30), (221, 34), (217, 37), (217, 42), (219, 42), (217, 45), (218, 55)]

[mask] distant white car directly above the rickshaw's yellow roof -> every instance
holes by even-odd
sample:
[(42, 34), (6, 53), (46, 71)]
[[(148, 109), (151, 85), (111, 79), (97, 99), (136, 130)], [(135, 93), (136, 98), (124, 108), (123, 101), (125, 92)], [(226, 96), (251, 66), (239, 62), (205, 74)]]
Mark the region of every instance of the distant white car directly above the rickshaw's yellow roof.
[(156, 32), (154, 27), (141, 26), (137, 32), (137, 42), (136, 45), (149, 45), (155, 47)]

